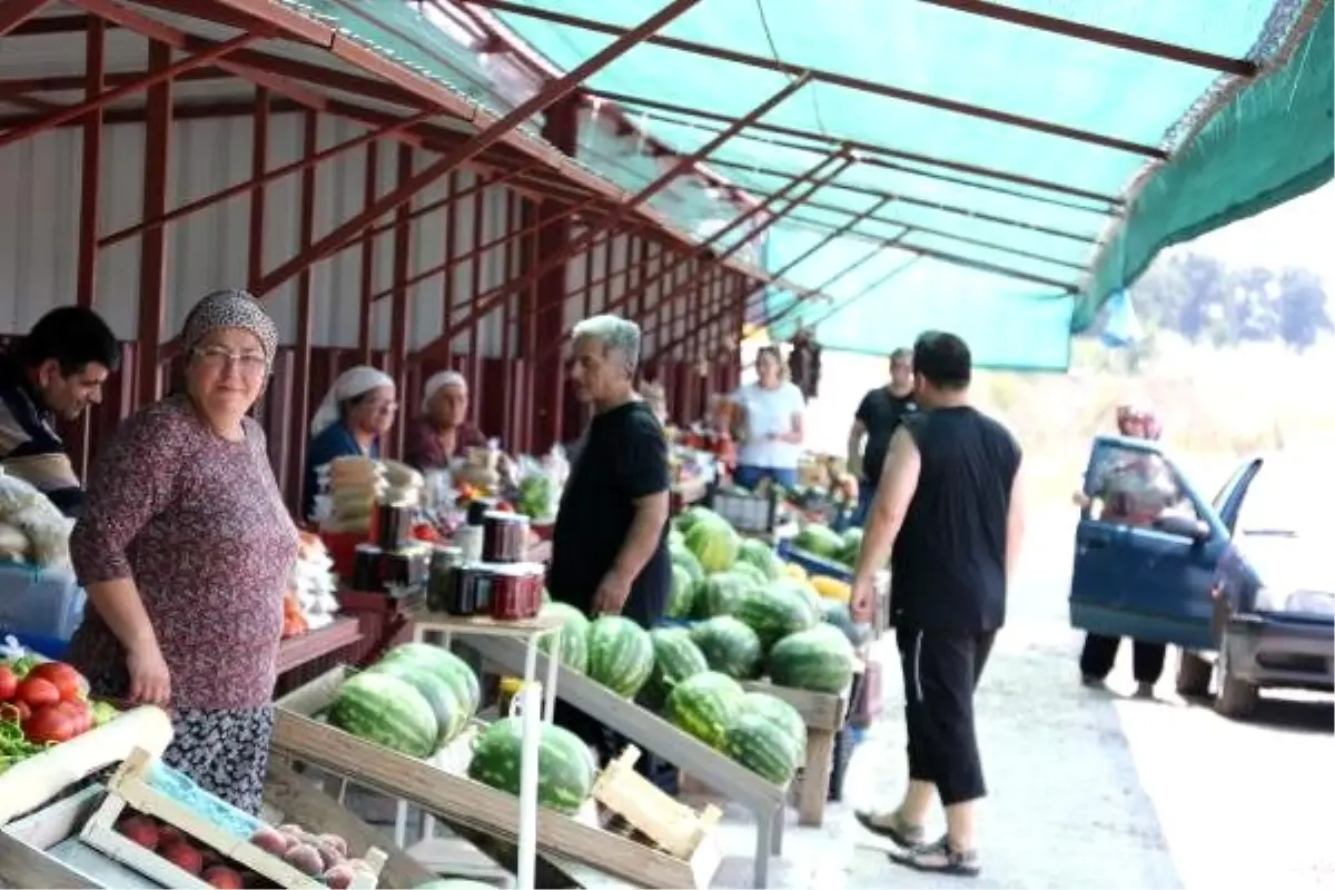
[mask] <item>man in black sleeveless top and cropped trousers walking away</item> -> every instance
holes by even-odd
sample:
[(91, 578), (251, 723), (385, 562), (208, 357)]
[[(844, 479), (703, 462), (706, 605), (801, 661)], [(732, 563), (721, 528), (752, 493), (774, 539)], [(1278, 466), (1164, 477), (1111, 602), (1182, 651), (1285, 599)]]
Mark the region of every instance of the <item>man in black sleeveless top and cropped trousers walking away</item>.
[[(890, 620), (904, 671), (909, 785), (900, 805), (858, 813), (920, 871), (973, 877), (975, 805), (987, 793), (973, 690), (1005, 619), (1007, 580), (1024, 534), (1020, 446), (969, 406), (969, 347), (929, 331), (913, 344), (924, 412), (890, 438), (853, 580), (853, 614), (872, 611), (873, 576), (890, 559)], [(945, 837), (925, 842), (932, 797)]]

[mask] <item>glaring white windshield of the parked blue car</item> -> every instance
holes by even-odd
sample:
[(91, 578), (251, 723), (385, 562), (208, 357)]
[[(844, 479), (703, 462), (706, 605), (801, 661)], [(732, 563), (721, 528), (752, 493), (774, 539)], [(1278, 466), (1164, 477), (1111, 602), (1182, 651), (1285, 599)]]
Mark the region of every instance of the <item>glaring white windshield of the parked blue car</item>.
[(1335, 472), (1324, 466), (1267, 460), (1247, 486), (1235, 527), (1244, 535), (1330, 535), (1332, 500)]

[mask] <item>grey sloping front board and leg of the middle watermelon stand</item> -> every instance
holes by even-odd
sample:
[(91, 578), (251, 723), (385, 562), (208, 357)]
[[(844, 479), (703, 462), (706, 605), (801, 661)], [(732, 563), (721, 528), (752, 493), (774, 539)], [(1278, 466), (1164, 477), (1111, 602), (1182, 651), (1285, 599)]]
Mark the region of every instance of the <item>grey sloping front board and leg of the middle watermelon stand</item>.
[[(525, 667), (526, 652), (514, 640), (478, 638), (470, 643), (478, 654), (502, 670), (517, 673)], [(558, 650), (554, 650), (558, 651)], [(746, 767), (716, 751), (704, 742), (682, 733), (657, 714), (614, 694), (583, 674), (559, 666), (559, 659), (538, 654), (539, 667), (551, 671), (558, 664), (557, 694), (563, 702), (657, 754), (709, 787), (740, 803), (756, 815), (756, 859), (753, 886), (764, 887), (769, 879), (769, 858), (782, 851), (784, 807), (788, 789), (766, 782)]]

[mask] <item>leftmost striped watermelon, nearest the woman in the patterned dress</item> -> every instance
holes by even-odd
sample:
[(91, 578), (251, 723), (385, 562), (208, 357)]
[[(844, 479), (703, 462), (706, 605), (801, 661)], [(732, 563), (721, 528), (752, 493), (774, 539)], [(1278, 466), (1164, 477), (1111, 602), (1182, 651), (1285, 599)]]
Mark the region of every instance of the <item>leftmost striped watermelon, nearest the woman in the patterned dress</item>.
[(363, 671), (339, 686), (330, 706), (331, 726), (409, 757), (435, 751), (441, 729), (422, 693), (388, 674)]

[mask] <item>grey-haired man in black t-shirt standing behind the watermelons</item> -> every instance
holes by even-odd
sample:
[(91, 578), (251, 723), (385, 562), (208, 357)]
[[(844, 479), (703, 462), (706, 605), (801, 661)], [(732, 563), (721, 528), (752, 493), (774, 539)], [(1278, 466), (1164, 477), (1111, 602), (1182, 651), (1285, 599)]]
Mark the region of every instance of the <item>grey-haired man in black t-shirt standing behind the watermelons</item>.
[[(634, 392), (639, 327), (614, 315), (575, 326), (571, 379), (594, 416), (577, 450), (551, 536), (547, 591), (590, 618), (625, 615), (658, 623), (672, 586), (668, 555), (668, 442)], [(621, 739), (570, 707), (557, 722), (618, 755)], [(641, 765), (655, 770), (654, 758)]]

